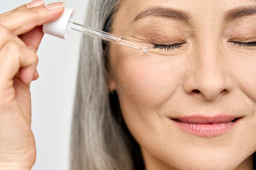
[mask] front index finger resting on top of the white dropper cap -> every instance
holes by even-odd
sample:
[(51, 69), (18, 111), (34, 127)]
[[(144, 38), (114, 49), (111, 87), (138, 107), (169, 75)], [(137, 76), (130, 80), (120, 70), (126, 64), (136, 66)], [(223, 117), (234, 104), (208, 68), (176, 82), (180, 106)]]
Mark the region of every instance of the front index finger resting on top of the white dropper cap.
[(60, 18), (64, 11), (64, 6), (65, 3), (56, 2), (46, 6), (27, 8), (9, 15), (0, 16), (0, 24), (16, 35), (24, 34), (36, 26)]

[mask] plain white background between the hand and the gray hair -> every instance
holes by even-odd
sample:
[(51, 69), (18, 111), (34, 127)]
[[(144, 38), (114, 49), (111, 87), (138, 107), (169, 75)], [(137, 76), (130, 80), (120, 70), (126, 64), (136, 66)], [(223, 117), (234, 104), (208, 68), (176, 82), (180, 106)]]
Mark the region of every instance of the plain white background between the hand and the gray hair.
[[(61, 1), (61, 0), (60, 0)], [(27, 0), (0, 0), (0, 13)], [(50, 4), (52, 0), (45, 0)], [(63, 0), (75, 10), (75, 22), (84, 24), (88, 0)], [(81, 34), (71, 31), (67, 40), (44, 35), (37, 52), (39, 78), (31, 84), (32, 131), (36, 139), (36, 163), (32, 170), (67, 170), (72, 107)]]

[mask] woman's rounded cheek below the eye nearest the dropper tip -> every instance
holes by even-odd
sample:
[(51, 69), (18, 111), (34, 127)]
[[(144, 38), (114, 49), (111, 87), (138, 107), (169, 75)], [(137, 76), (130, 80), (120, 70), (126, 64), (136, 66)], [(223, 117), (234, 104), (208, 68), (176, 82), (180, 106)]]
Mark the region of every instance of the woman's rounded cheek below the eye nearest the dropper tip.
[(147, 105), (152, 109), (174, 93), (184, 73), (178, 56), (144, 54), (125, 47), (115, 49), (111, 68), (120, 98), (130, 100), (133, 106)]

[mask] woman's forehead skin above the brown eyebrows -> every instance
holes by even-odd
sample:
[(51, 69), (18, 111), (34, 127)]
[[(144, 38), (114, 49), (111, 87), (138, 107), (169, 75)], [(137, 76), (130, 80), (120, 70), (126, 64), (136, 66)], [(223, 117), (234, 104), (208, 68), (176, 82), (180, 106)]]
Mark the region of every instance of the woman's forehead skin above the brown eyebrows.
[[(118, 22), (127, 25), (145, 9), (159, 6), (185, 11), (193, 20), (220, 20), (232, 9), (256, 5), (255, 0), (122, 0), (116, 11)], [(160, 18), (158, 18), (160, 19)]]

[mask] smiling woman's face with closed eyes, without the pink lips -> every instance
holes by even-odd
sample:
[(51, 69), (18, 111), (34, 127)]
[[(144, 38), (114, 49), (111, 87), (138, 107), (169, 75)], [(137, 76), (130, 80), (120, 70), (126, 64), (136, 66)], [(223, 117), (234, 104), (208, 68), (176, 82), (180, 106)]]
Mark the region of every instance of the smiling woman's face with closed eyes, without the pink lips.
[[(125, 0), (117, 10), (112, 33), (151, 50), (112, 43), (108, 77), (147, 168), (234, 169), (256, 151), (255, 14), (255, 0)], [(214, 134), (171, 119), (223, 114), (240, 119)]]

